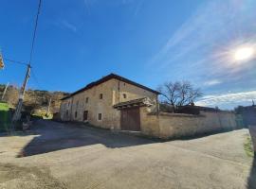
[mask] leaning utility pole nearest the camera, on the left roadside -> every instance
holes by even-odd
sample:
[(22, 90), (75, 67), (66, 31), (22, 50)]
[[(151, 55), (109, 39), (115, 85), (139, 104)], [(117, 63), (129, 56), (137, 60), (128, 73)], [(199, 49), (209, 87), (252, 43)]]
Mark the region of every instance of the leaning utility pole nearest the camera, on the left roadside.
[(16, 121), (20, 120), (20, 118), (21, 118), (22, 103), (23, 103), (23, 99), (24, 99), (24, 94), (25, 94), (26, 86), (27, 86), (27, 80), (30, 77), (30, 69), (31, 69), (30, 64), (27, 64), (26, 77), (25, 77), (25, 79), (23, 81), (23, 85), (22, 85), (22, 88), (21, 88), (20, 93), (19, 93), (19, 100), (18, 100), (18, 104), (17, 104), (16, 110), (14, 112), (14, 115), (12, 117), (12, 122), (16, 122)]

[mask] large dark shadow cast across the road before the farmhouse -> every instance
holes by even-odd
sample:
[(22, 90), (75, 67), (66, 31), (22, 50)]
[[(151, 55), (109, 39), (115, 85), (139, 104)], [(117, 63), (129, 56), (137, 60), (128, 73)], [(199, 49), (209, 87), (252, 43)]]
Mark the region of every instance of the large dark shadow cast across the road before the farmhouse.
[(23, 148), (17, 157), (32, 156), (79, 146), (101, 144), (115, 148), (147, 145), (156, 142), (106, 129), (67, 127), (62, 123), (42, 120), (37, 122), (32, 130), (38, 135)]

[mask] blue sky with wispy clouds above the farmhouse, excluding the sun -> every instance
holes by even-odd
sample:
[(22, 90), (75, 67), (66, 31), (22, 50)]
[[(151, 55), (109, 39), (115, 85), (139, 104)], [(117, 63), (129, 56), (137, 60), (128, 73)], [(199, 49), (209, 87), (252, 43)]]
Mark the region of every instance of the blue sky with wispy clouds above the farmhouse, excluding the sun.
[[(37, 6), (1, 0), (4, 59), (28, 61)], [(255, 0), (43, 0), (27, 87), (74, 92), (115, 73), (153, 89), (189, 80), (201, 106), (251, 105), (256, 58), (233, 55), (256, 50), (255, 9)], [(21, 86), (25, 73), (5, 60), (0, 83)]]

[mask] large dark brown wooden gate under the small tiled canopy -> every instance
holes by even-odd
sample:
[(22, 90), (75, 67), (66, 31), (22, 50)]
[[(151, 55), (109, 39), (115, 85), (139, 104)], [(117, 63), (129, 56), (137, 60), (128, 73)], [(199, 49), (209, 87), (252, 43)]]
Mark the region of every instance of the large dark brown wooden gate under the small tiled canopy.
[(122, 130), (140, 130), (139, 108), (121, 110), (121, 129)]

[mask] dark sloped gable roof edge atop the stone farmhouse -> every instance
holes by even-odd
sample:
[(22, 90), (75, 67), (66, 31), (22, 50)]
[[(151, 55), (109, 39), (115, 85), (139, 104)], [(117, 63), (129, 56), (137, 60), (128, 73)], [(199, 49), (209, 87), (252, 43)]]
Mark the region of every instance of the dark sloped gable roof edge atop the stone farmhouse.
[(95, 87), (95, 86), (97, 86), (97, 85), (100, 85), (101, 83), (106, 82), (106, 81), (108, 81), (108, 80), (110, 80), (110, 79), (112, 79), (112, 78), (116, 78), (116, 79), (118, 79), (118, 80), (120, 80), (120, 81), (129, 83), (129, 84), (131, 84), (131, 85), (135, 85), (135, 86), (137, 86), (137, 87), (139, 87), (139, 88), (141, 88), (141, 89), (144, 89), (144, 90), (146, 90), (146, 91), (150, 91), (150, 92), (152, 92), (152, 93), (154, 93), (154, 94), (160, 94), (159, 92), (157, 92), (157, 91), (155, 91), (155, 90), (153, 90), (153, 89), (151, 89), (151, 88), (148, 88), (148, 87), (146, 87), (146, 86), (144, 86), (144, 85), (138, 84), (137, 82), (132, 81), (132, 80), (130, 80), (130, 79), (128, 79), (128, 78), (120, 77), (119, 75), (116, 75), (116, 74), (109, 74), (109, 75), (107, 75), (106, 77), (102, 77), (102, 78), (99, 79), (99, 80), (96, 80), (96, 81), (94, 81), (94, 82), (91, 82), (91, 83), (87, 84), (85, 87), (83, 87), (82, 89), (80, 89), (80, 90), (78, 90), (78, 91), (76, 91), (76, 92), (74, 92), (74, 93), (72, 93), (72, 94), (69, 94), (69, 95), (65, 96), (64, 98), (62, 98), (62, 100), (67, 99), (67, 98), (69, 98), (69, 97), (71, 97), (71, 96), (73, 96), (73, 95), (75, 95), (75, 94), (82, 93), (83, 91), (86, 91), (86, 90), (91, 89), (91, 88), (93, 88), (93, 87)]

